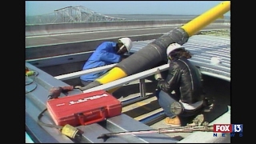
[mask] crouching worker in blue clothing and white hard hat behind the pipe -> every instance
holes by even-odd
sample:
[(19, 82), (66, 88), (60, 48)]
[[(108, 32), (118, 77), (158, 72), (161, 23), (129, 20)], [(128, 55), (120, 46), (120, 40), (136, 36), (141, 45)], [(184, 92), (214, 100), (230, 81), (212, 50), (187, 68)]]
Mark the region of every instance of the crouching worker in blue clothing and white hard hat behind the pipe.
[[(121, 62), (124, 54), (129, 52), (132, 47), (130, 38), (119, 38), (118, 42), (102, 42), (90, 58), (86, 61), (82, 70), (92, 69), (98, 66), (106, 66)], [(86, 86), (95, 79), (106, 74), (107, 70), (96, 73), (85, 74), (80, 77), (82, 85)]]

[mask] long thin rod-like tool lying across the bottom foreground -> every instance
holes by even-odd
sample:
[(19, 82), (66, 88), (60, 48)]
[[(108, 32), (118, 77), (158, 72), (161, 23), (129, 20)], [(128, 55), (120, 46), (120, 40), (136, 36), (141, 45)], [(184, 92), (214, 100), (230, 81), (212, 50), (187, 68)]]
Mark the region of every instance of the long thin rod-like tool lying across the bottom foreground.
[(125, 135), (125, 134), (150, 134), (150, 133), (159, 133), (159, 134), (167, 134), (167, 133), (191, 133), (194, 131), (213, 131), (214, 127), (209, 126), (208, 122), (202, 123), (202, 126), (173, 126), (166, 128), (159, 128), (158, 130), (136, 130), (136, 131), (124, 131), (118, 133), (106, 133), (98, 136), (102, 138), (104, 142), (110, 137)]

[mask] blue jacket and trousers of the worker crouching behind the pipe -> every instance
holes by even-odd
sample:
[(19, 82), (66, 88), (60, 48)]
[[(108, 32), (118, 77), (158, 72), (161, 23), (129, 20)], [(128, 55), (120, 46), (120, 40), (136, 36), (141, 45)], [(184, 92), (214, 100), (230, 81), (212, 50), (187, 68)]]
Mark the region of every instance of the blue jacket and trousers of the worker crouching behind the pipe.
[[(116, 45), (116, 42), (102, 42), (102, 44), (99, 45), (96, 50), (94, 50), (94, 53), (91, 54), (90, 58), (88, 58), (85, 65), (82, 67), (82, 70), (88, 70), (98, 66), (106, 66), (120, 62), (122, 60), (122, 57), (121, 55), (117, 54), (116, 50), (114, 50)], [(99, 78), (100, 76), (105, 74), (106, 71), (107, 70), (100, 71), (98, 73), (85, 74), (82, 75), (80, 78), (83, 81), (92, 82), (96, 78)]]

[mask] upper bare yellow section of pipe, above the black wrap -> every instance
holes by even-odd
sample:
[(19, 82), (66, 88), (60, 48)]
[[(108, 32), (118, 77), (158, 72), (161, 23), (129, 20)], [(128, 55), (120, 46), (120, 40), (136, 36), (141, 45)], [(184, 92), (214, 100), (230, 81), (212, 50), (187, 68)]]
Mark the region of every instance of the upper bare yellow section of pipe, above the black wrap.
[(196, 34), (199, 30), (202, 30), (203, 27), (209, 25), (211, 22), (214, 22), (214, 20), (217, 18), (220, 18), (223, 14), (226, 14), (226, 12), (229, 10), (230, 1), (221, 2), (217, 6), (214, 6), (212, 9), (186, 23), (184, 26), (182, 26), (182, 29), (185, 30), (190, 37)]

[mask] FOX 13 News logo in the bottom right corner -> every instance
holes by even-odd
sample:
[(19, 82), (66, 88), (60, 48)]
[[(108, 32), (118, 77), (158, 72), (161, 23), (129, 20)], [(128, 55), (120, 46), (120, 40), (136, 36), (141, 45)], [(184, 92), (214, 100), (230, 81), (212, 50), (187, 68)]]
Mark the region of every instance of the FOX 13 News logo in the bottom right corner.
[(218, 137), (218, 134), (226, 137), (228, 133), (230, 133), (230, 137), (242, 137), (242, 130), (242, 124), (214, 124), (214, 137)]

